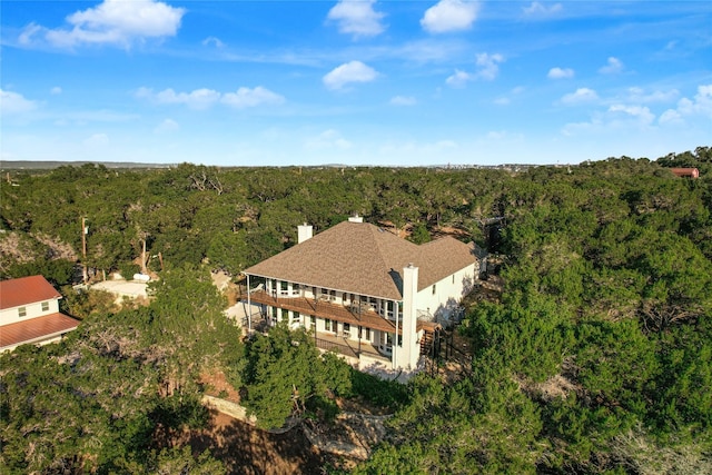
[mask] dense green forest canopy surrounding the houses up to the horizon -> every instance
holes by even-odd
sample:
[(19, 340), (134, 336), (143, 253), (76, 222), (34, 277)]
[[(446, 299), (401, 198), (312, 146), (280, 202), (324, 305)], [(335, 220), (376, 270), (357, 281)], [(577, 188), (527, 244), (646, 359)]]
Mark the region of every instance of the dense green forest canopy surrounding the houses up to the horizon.
[[(696, 167), (700, 178), (673, 167)], [(421, 375), (382, 392), (398, 395), (390, 433), (356, 473), (712, 472), (709, 147), (516, 172), (188, 164), (12, 172), (1, 188), (2, 278), (39, 273), (63, 286), (77, 263), (130, 276), (146, 245), (160, 253), (148, 266), (161, 280), (148, 307), (87, 310), (61, 345), (2, 356), (2, 466), (220, 472), (209, 454), (151, 442), (156, 427), (201, 424), (205, 367), (251, 390), (255, 414), (280, 404), (267, 425), (353, 394), (358, 377), (319, 359), (303, 335), (278, 329), (240, 344), (207, 281), (210, 269), (237, 276), (293, 246), (301, 222), (318, 231), (353, 214), (415, 241), (474, 239), (505, 283), (500, 298), (467, 309), (459, 331), (474, 356), (461, 377)], [(66, 300), (75, 314), (89, 305)], [(300, 338), (298, 350), (284, 345)], [(284, 358), (299, 364), (287, 370)], [(284, 384), (297, 382), (309, 397), (290, 406)]]

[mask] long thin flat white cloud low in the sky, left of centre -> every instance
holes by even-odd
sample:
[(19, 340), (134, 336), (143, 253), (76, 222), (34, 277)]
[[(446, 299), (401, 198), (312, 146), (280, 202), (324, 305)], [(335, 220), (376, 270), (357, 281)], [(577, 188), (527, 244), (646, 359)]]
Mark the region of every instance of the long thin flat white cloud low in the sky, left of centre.
[(285, 101), (283, 96), (261, 86), (257, 86), (254, 89), (239, 88), (236, 92), (225, 93), (206, 88), (196, 89), (190, 92), (176, 92), (172, 89), (154, 92), (149, 88), (139, 88), (136, 91), (136, 97), (148, 99), (156, 103), (180, 103), (197, 110), (207, 109), (218, 102), (237, 109), (244, 109), (260, 105), (279, 105)]

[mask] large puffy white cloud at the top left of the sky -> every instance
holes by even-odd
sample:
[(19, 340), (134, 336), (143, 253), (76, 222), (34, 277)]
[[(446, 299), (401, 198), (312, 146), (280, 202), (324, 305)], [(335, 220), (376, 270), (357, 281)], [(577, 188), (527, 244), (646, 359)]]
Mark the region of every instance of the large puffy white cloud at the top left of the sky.
[(58, 48), (80, 44), (129, 47), (147, 38), (172, 37), (186, 10), (155, 0), (105, 0), (96, 8), (77, 11), (66, 18), (69, 28), (48, 29), (29, 24), (20, 34), (22, 44), (43, 40)]

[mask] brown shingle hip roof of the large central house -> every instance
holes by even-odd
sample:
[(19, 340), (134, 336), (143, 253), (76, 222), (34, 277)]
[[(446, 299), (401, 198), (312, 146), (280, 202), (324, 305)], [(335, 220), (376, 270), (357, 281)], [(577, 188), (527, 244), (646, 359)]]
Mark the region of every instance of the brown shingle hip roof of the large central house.
[(475, 260), (474, 245), (449, 237), (418, 246), (367, 222), (344, 221), (244, 274), (399, 300), (408, 264), (418, 267), (421, 290)]

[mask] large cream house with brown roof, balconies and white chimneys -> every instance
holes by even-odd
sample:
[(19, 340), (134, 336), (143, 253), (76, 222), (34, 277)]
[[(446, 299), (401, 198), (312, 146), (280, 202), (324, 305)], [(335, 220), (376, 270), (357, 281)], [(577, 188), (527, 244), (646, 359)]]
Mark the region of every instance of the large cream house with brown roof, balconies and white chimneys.
[(449, 237), (416, 245), (359, 217), (317, 235), (305, 224), (296, 246), (244, 271), (243, 300), (258, 305), (268, 325), (310, 329), (317, 346), (337, 347), (362, 367), (412, 370), (473, 288), (478, 251)]

